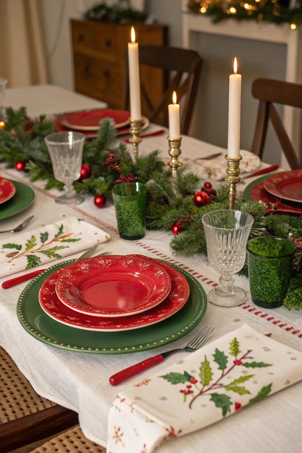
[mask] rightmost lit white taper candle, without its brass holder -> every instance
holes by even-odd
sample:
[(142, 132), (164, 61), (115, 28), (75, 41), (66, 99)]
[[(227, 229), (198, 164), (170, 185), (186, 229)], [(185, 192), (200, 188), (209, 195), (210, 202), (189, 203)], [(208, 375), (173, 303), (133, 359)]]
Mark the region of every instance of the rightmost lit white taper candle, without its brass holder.
[(229, 130), (228, 157), (238, 159), (240, 156), (240, 104), (241, 75), (237, 74), (237, 60), (234, 60), (234, 74), (230, 75), (229, 86)]

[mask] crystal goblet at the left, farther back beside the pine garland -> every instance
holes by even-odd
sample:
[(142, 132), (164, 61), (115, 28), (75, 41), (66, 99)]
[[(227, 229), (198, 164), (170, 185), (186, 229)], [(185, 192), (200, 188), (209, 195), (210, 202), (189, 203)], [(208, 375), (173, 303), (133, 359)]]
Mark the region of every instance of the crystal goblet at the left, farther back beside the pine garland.
[(80, 132), (55, 132), (44, 140), (54, 176), (64, 183), (65, 193), (56, 198), (56, 202), (69, 205), (82, 203), (84, 198), (76, 194), (72, 183), (80, 178), (85, 135)]

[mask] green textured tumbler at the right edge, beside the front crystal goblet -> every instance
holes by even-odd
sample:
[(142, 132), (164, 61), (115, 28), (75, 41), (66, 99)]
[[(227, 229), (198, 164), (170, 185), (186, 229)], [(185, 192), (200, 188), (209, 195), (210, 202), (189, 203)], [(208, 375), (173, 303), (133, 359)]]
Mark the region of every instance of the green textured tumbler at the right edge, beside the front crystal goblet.
[(280, 307), (288, 290), (295, 244), (282, 237), (259, 236), (250, 239), (246, 249), (252, 301), (263, 308)]

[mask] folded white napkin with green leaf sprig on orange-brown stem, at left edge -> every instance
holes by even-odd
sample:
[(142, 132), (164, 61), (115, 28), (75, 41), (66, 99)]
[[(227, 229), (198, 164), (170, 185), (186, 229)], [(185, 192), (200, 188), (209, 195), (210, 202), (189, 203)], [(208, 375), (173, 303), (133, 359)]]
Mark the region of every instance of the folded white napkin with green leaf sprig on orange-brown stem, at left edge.
[(0, 242), (0, 278), (89, 249), (110, 235), (77, 217), (51, 223)]

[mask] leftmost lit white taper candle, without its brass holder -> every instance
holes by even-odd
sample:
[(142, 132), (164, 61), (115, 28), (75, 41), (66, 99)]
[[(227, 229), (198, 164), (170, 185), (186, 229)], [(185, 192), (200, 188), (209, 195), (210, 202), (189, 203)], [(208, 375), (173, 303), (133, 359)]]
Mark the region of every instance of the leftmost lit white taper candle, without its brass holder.
[(128, 43), (130, 116), (131, 120), (140, 120), (139, 44), (135, 42), (133, 27), (131, 29), (131, 41), (131, 43)]

